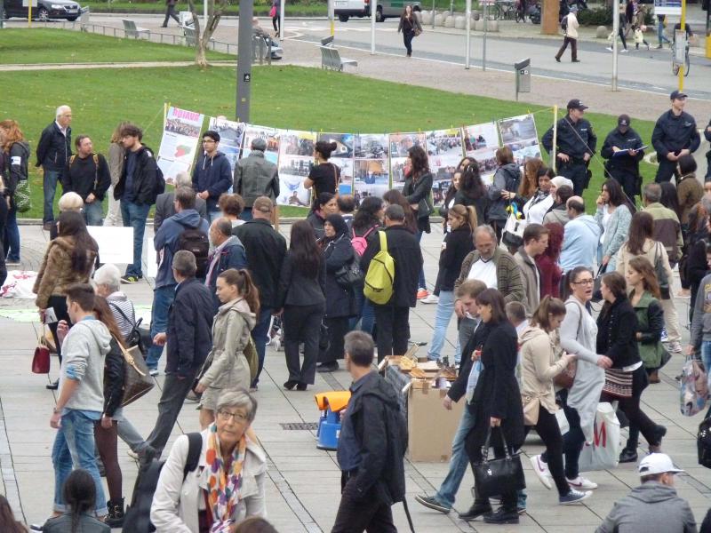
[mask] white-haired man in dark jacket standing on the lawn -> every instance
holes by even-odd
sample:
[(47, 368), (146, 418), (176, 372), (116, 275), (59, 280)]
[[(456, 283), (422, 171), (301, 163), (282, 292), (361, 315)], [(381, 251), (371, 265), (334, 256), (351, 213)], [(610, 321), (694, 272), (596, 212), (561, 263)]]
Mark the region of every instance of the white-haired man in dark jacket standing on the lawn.
[(57, 107), (54, 122), (42, 131), (37, 143), (35, 166), (44, 171), (44, 213), (42, 222), (45, 231), (50, 231), (54, 221), (54, 195), (57, 182), (64, 176), (64, 168), (72, 156), (72, 110), (69, 106)]

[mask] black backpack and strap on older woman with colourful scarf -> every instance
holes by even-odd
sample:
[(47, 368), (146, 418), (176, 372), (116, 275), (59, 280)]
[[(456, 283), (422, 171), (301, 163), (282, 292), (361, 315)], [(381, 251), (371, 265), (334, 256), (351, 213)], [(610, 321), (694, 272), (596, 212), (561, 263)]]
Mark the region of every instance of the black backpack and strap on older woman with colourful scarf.
[[(183, 481), (188, 477), (188, 473), (193, 472), (200, 463), (202, 449), (203, 435), (188, 434), (188, 459), (183, 468)], [(151, 533), (156, 530), (156, 527), (150, 523), (150, 506), (153, 504), (153, 495), (156, 493), (158, 478), (164, 464), (164, 460), (153, 459), (149, 465), (140, 468), (139, 477), (133, 487), (131, 506), (126, 510), (124, 531)]]

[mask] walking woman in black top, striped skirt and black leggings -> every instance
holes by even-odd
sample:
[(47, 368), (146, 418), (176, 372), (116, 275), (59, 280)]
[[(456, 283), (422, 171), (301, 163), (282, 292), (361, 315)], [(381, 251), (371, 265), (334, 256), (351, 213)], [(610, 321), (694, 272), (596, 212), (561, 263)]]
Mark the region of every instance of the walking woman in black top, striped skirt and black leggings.
[(612, 383), (612, 378), (615, 380), (614, 394), (608, 392), (611, 388), (603, 390), (600, 401), (618, 401), (618, 409), (625, 413), (630, 427), (638, 427), (649, 443), (650, 451), (658, 452), (667, 428), (652, 422), (639, 405), (649, 379), (639, 356), (637, 316), (627, 298), (625, 278), (618, 272), (603, 274), (600, 291), (605, 303), (597, 317), (596, 346), (599, 353), (612, 360), (606, 383)]

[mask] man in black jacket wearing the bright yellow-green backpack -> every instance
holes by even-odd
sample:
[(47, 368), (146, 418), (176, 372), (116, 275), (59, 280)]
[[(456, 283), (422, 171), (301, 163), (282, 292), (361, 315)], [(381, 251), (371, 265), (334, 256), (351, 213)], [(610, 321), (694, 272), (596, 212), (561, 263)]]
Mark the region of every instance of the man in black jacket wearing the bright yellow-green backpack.
[[(387, 206), (385, 211), (385, 235), (387, 251), (395, 261), (393, 296), (384, 306), (373, 304), (378, 328), (378, 361), (386, 355), (402, 355), (407, 352), (410, 339), (410, 307), (417, 305), (419, 269), (422, 267), (422, 251), (417, 237), (405, 227), (405, 213), (400, 205)], [(368, 272), (371, 260), (380, 251), (380, 240), (373, 237), (363, 252), (361, 268)]]

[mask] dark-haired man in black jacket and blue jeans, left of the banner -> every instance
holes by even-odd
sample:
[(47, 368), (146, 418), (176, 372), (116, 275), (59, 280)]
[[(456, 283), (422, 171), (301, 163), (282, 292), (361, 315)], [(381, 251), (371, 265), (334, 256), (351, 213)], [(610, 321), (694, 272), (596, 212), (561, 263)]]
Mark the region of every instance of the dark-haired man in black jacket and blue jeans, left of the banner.
[(124, 226), (133, 228), (133, 264), (126, 267), (126, 274), (121, 278), (123, 283), (135, 283), (143, 277), (141, 254), (146, 219), (150, 206), (156, 203), (156, 196), (165, 189), (153, 152), (141, 144), (142, 138), (143, 131), (138, 126), (126, 124), (121, 129), (121, 143), (126, 152), (124, 170), (114, 187), (114, 198), (121, 201)]

